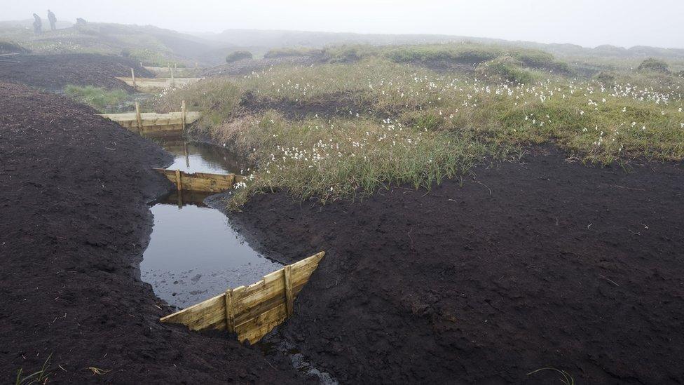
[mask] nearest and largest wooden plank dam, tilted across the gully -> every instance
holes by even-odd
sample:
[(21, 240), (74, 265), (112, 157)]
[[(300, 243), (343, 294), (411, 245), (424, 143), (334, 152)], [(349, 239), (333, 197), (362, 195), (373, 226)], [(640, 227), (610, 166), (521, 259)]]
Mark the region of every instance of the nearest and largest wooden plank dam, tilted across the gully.
[(319, 252), (287, 265), (247, 287), (228, 289), (222, 295), (161, 318), (161, 321), (183, 323), (191, 330), (225, 329), (235, 332), (239, 341), (254, 344), (292, 314), (296, 295), (306, 285), (323, 255), (324, 252)]

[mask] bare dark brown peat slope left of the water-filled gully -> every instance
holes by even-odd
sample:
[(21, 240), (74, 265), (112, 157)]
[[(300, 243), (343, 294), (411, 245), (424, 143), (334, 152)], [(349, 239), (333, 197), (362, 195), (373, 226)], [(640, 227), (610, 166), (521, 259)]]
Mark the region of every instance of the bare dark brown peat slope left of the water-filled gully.
[[(0, 374), (58, 384), (301, 383), (226, 333), (158, 319), (139, 280), (172, 157), (64, 97), (0, 83)], [(278, 369), (281, 368), (282, 370)], [(91, 369), (91, 368), (97, 368)], [(93, 371), (98, 372), (95, 374)]]

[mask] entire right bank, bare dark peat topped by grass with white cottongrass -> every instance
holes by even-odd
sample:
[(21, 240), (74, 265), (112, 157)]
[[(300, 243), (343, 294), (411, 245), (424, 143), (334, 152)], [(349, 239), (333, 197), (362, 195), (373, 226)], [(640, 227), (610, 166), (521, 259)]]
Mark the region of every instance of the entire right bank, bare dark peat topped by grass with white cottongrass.
[(327, 250), (280, 338), (337, 379), (676, 382), (682, 80), (487, 62), (279, 67), (157, 105), (259, 163), (228, 203), (264, 250)]

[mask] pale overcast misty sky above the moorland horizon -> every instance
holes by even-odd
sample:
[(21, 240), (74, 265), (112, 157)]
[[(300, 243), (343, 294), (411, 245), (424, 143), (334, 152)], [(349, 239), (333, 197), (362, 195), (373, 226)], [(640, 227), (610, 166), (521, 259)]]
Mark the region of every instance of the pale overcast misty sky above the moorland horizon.
[(2, 0), (1, 20), (58, 19), (156, 25), (380, 34), (453, 34), (684, 48), (684, 0)]

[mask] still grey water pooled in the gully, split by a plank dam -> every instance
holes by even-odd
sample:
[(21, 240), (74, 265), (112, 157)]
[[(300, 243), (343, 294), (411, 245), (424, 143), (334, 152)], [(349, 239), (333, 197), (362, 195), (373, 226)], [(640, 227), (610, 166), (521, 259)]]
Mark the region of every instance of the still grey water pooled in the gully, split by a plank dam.
[[(225, 149), (167, 140), (160, 144), (175, 154), (170, 169), (189, 173), (240, 173), (249, 164)], [(151, 207), (154, 215), (149, 246), (140, 273), (156, 295), (184, 308), (249, 285), (278, 270), (281, 264), (254, 251), (231, 228), (230, 218), (203, 202), (207, 195), (172, 194)]]

